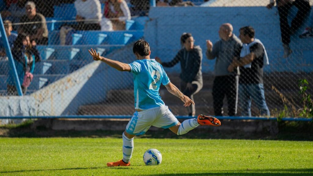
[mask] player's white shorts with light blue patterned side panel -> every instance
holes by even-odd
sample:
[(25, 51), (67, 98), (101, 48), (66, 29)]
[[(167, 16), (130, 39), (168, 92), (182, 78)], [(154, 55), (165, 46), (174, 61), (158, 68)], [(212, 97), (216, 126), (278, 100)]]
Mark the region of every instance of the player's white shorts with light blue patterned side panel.
[(126, 132), (131, 135), (145, 134), (151, 126), (159, 128), (173, 127), (178, 123), (177, 118), (167, 106), (136, 111), (126, 126)]

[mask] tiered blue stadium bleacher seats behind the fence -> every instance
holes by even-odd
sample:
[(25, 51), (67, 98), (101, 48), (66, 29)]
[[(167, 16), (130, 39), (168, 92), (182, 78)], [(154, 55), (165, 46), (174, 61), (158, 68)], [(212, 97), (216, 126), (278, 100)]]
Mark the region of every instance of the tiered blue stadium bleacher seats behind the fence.
[[(3, 1), (0, 1), (0, 5), (1, 3)], [(102, 4), (103, 8), (104, 4)], [(142, 38), (144, 25), (148, 20), (148, 17), (127, 20), (125, 31), (75, 31), (72, 34), (72, 45), (59, 45), (59, 28), (63, 24), (74, 24), (75, 16), (74, 4), (60, 4), (54, 6), (54, 17), (46, 18), (49, 45), (37, 46), (42, 61), (36, 63), (34, 79), (27, 94), (31, 94), (92, 62), (88, 53), (90, 48), (97, 49), (101, 55), (105, 55)], [(0, 68), (8, 68), (8, 61), (1, 60)], [(0, 70), (0, 92), (5, 95), (8, 69)]]

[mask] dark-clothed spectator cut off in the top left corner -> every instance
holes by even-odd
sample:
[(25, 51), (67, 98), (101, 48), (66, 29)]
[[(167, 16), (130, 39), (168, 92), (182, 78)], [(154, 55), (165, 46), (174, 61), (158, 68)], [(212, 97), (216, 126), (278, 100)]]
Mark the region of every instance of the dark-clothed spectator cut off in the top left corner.
[[(18, 0), (17, 2), (7, 2), (8, 9), (1, 12), (3, 19), (8, 19), (12, 23), (18, 23), (20, 18), (25, 15), (26, 0)], [(15, 26), (14, 30), (15, 29)]]

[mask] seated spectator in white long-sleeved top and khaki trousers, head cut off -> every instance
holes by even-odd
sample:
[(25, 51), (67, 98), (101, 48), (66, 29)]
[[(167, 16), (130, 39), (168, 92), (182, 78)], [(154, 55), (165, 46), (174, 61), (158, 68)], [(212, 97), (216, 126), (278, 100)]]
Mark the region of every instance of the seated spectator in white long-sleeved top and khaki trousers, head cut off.
[(66, 41), (66, 36), (73, 30), (100, 30), (100, 20), (102, 18), (101, 4), (99, 0), (76, 0), (77, 23), (73, 25), (65, 24), (60, 28), (60, 44), (71, 44)]

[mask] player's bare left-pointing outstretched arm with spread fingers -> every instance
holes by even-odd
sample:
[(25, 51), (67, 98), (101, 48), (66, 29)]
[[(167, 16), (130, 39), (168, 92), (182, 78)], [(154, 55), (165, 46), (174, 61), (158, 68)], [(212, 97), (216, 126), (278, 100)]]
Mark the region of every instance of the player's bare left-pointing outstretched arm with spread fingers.
[(88, 50), (88, 51), (94, 60), (96, 60), (96, 61), (100, 60), (100, 61), (106, 63), (107, 65), (109, 65), (109, 66), (111, 66), (111, 67), (113, 67), (119, 71), (131, 71), (131, 67), (128, 64), (102, 57), (102, 56), (100, 56), (99, 53), (96, 52), (95, 49), (91, 48), (90, 50)]

